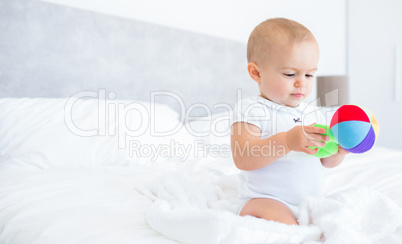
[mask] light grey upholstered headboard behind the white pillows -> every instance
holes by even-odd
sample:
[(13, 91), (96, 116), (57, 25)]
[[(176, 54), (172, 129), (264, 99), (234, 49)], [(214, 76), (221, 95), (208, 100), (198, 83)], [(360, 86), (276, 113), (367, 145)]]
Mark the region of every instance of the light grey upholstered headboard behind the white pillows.
[[(234, 104), (255, 94), (243, 43), (46, 2), (0, 1), (0, 97), (69, 97), (113, 91), (186, 106)], [(175, 107), (177, 101), (159, 96)]]

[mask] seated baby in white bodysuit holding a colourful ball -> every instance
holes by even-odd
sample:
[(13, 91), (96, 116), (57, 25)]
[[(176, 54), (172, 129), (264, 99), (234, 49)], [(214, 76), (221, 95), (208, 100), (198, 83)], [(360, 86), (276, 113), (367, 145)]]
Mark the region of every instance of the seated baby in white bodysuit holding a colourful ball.
[(240, 215), (297, 224), (297, 209), (320, 195), (323, 167), (335, 167), (347, 152), (311, 156), (328, 141), (327, 124), (303, 100), (311, 93), (319, 50), (313, 34), (284, 18), (268, 19), (250, 34), (248, 73), (260, 94), (240, 101), (231, 126), (233, 160), (241, 170)]

